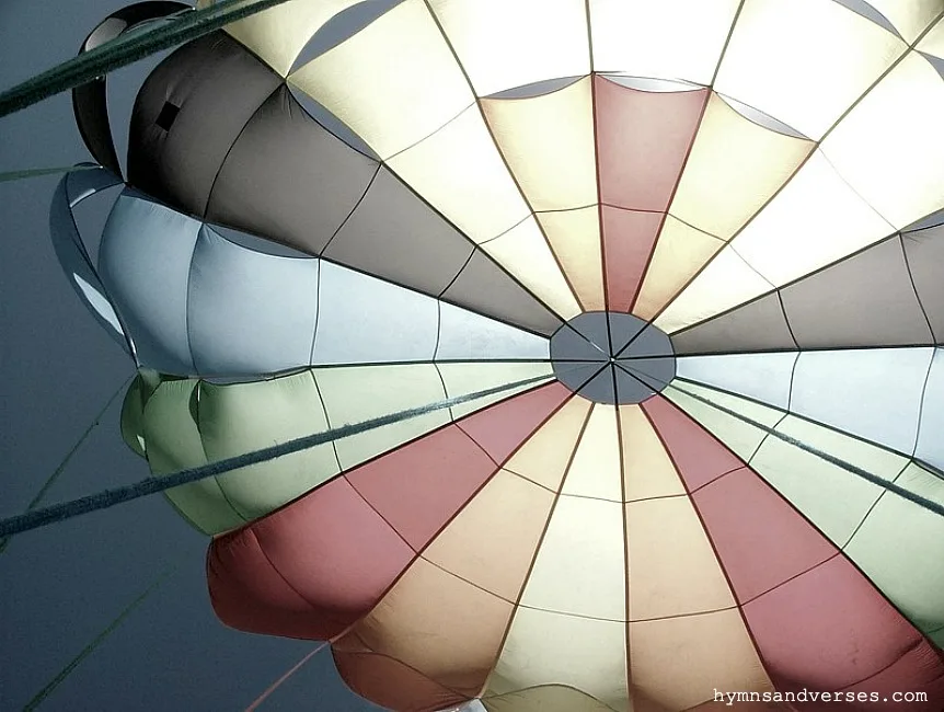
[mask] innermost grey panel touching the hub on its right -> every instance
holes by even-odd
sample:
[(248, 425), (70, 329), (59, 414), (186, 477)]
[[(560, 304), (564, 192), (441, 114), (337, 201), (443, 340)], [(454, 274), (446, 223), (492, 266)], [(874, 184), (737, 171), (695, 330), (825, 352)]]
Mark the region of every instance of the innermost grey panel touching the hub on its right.
[(672, 334), (670, 338), (680, 356), (796, 347), (776, 292)]

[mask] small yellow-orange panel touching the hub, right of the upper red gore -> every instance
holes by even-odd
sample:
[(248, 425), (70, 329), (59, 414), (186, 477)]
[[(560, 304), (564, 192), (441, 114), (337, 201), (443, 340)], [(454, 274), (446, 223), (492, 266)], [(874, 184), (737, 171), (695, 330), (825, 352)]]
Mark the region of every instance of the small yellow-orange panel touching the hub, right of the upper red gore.
[(667, 216), (633, 313), (655, 317), (722, 248), (722, 240)]

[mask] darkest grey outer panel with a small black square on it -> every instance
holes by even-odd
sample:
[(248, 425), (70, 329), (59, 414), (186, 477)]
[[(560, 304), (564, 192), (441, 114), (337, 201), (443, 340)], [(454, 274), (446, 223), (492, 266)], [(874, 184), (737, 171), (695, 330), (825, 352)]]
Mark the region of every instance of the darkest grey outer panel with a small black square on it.
[(203, 217), (227, 153), (280, 83), (223, 32), (184, 45), (138, 92), (128, 137), (129, 183)]

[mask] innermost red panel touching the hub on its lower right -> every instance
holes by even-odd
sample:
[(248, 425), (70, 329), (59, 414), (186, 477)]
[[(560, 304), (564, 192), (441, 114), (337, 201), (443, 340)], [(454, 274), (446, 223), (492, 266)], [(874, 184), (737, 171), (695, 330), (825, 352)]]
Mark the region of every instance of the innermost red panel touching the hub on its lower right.
[(663, 395), (642, 406), (689, 492), (744, 467), (737, 456)]

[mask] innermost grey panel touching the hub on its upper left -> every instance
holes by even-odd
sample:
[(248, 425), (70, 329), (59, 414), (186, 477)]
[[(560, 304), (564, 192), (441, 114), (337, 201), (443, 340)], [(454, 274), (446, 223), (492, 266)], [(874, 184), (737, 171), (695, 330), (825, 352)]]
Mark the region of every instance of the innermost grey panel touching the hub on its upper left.
[(564, 323), (481, 250), (472, 253), (442, 299), (544, 336)]

